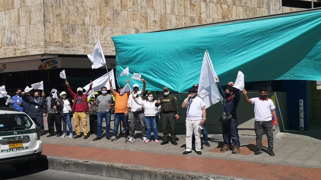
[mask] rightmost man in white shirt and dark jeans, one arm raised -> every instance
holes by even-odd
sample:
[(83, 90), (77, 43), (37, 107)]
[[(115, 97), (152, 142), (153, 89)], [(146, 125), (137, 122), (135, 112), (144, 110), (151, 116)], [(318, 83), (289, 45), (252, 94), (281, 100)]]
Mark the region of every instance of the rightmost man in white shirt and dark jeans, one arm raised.
[[(256, 148), (255, 155), (262, 154), (262, 135), (263, 130), (265, 131), (268, 143), (267, 152), (270, 156), (274, 156), (273, 152), (273, 124), (272, 117), (276, 119), (275, 106), (271, 99), (267, 98), (267, 91), (265, 87), (260, 88), (259, 97), (248, 99), (247, 91), (243, 89), (245, 102), (254, 104), (254, 128), (256, 134)], [(275, 121), (275, 125), (279, 126), (278, 122)]]

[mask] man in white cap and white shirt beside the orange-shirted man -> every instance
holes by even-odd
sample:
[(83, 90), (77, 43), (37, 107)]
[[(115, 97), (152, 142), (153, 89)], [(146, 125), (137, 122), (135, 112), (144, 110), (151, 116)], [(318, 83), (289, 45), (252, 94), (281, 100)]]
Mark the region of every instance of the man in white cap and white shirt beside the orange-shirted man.
[(130, 127), (129, 127), (129, 136), (130, 137), (128, 139), (128, 142), (135, 141), (134, 137), (135, 137), (135, 126), (136, 126), (137, 119), (139, 120), (140, 128), (142, 130), (143, 142), (145, 142), (147, 140), (143, 106), (137, 104), (133, 99), (133, 96), (135, 96), (136, 98), (142, 98), (142, 94), (144, 94), (144, 92), (145, 92), (146, 82), (144, 79), (141, 79), (141, 81), (143, 81), (142, 90), (139, 90), (138, 84), (134, 84), (133, 85), (133, 94), (129, 96), (127, 106), (126, 106), (125, 116), (128, 115), (128, 109), (129, 108), (131, 109), (131, 111), (130, 111), (131, 112), (131, 114), (130, 114)]

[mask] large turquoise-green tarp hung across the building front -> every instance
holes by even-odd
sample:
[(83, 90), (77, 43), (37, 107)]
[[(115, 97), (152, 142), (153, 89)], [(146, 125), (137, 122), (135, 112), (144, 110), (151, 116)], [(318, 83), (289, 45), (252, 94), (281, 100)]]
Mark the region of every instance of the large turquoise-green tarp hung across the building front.
[(141, 73), (148, 90), (186, 92), (199, 82), (207, 49), (223, 84), (235, 81), (239, 70), (245, 82), (321, 80), (320, 40), (321, 11), (116, 36), (116, 77), (124, 86), (127, 77), (119, 75), (128, 66), (129, 77)]

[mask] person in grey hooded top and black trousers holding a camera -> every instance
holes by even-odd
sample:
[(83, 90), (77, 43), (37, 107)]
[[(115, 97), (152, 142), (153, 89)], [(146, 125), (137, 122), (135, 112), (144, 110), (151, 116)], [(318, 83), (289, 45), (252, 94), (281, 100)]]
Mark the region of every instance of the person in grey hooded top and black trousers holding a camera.
[(46, 98), (47, 107), (48, 107), (47, 121), (48, 121), (48, 130), (49, 130), (49, 134), (47, 135), (47, 137), (54, 136), (55, 126), (56, 126), (57, 137), (60, 137), (62, 135), (61, 134), (61, 117), (60, 117), (61, 108), (60, 106), (57, 106), (58, 98), (54, 98), (54, 97), (57, 97), (58, 95), (59, 94), (57, 90), (52, 89), (49, 97)]

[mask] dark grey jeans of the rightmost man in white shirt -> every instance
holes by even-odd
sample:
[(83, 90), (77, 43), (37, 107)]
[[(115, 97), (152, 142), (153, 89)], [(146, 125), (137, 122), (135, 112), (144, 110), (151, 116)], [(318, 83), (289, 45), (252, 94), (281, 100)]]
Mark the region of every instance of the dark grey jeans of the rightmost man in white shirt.
[(255, 121), (254, 129), (256, 134), (256, 148), (258, 151), (262, 151), (262, 135), (265, 131), (267, 137), (268, 151), (273, 151), (273, 128), (272, 120), (271, 121)]

